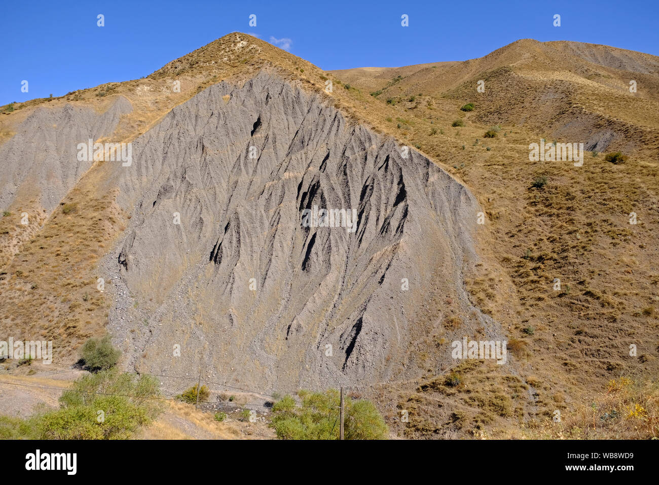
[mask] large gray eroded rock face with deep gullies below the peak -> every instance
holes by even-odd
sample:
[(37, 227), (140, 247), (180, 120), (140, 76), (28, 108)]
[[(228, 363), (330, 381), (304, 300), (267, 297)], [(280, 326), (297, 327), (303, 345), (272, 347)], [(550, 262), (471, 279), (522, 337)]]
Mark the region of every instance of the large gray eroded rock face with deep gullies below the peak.
[[(440, 282), (473, 309), (471, 193), (278, 77), (204, 90), (115, 170), (132, 217), (109, 271), (137, 308), (117, 304), (110, 329), (146, 372), (201, 365), (260, 389), (385, 381), (414, 351), (428, 288)], [(355, 209), (355, 232), (305, 227), (314, 205)]]

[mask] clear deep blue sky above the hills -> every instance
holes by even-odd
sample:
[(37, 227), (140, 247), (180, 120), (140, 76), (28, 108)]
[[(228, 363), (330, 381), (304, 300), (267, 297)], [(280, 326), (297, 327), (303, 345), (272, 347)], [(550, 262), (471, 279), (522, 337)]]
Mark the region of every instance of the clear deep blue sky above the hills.
[(138, 79), (234, 31), (289, 39), (279, 45), (330, 70), (473, 59), (520, 38), (659, 55), (658, 14), (659, 0), (2, 0), (0, 105)]

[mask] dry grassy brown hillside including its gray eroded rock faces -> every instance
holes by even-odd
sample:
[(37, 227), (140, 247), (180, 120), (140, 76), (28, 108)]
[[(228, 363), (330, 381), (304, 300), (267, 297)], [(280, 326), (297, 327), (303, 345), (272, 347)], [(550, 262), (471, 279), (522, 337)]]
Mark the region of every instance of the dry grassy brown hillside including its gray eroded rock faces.
[[(517, 436), (659, 370), (658, 65), (521, 40), (325, 73), (234, 33), (145, 79), (14, 106), (0, 115), (0, 329), (53, 339), (59, 362), (107, 329), (131, 370), (346, 385), (401, 436)], [(132, 165), (72, 167), (88, 137), (132, 143)], [(540, 138), (590, 151), (581, 167), (531, 162)], [(598, 153), (612, 150), (629, 160)], [(314, 205), (357, 209), (355, 232), (304, 228)], [(456, 366), (465, 335), (507, 339), (507, 365)]]

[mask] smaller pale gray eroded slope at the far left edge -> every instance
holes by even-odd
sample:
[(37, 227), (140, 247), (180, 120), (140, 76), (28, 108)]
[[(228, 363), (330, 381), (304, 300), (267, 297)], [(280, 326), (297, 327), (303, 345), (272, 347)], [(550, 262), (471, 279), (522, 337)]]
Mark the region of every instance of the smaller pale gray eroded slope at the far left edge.
[(92, 165), (92, 160), (78, 162), (78, 143), (111, 135), (119, 117), (131, 111), (123, 97), (103, 114), (71, 104), (34, 110), (0, 145), (0, 209), (22, 192), (40, 195), (41, 205), (53, 210)]

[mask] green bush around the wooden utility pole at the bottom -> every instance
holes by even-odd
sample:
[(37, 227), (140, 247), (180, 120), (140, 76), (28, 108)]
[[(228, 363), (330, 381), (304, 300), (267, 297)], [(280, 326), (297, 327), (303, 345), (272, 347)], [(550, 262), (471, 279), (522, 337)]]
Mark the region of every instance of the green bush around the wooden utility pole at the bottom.
[[(285, 396), (272, 406), (272, 422), (279, 439), (339, 439), (340, 394), (336, 389), (324, 393), (300, 391), (302, 407)], [(386, 439), (384, 418), (370, 401), (344, 397), (345, 439)]]

